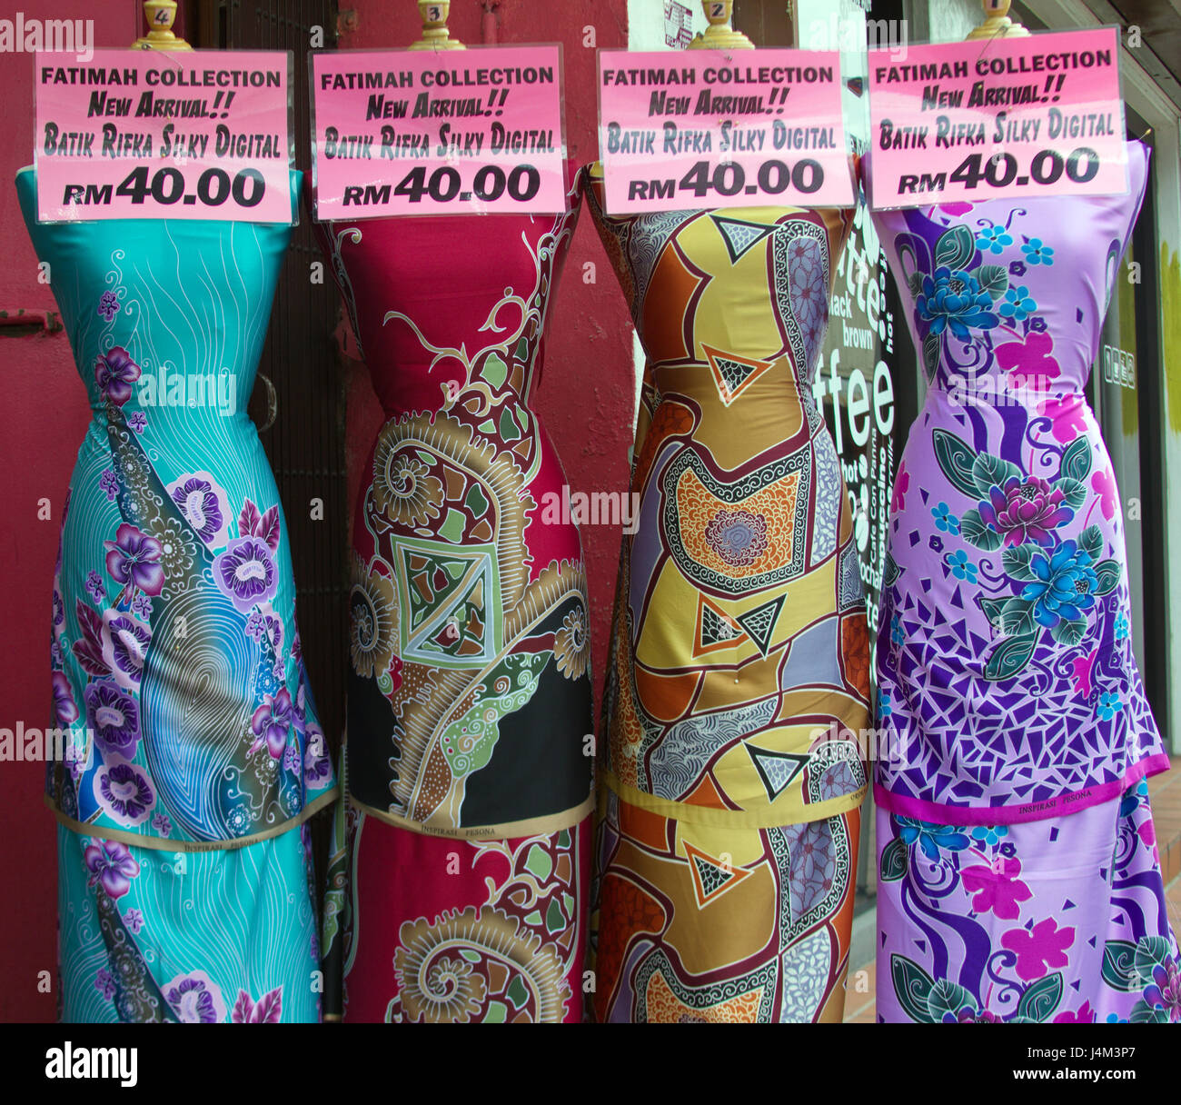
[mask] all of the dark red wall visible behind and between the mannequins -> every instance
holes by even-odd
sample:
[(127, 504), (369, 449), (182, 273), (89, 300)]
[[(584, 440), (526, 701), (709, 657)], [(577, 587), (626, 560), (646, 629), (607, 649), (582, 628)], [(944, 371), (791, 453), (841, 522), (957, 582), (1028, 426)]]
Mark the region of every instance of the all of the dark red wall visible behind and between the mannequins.
[[(348, 0), (341, 5), (345, 7)], [(567, 139), (570, 155), (588, 161), (595, 139), (595, 54), (582, 46), (583, 26), (593, 22), (598, 45), (627, 41), (625, 0), (590, 7), (572, 4), (501, 0), (496, 7), (502, 41), (561, 41), (566, 54)], [(4, 18), (12, 18), (6, 6)], [(482, 0), (455, 0), (456, 35), (482, 40)], [(22, 0), (28, 19), (94, 18), (87, 0)], [(406, 45), (418, 33), (410, 0), (355, 0), (358, 28), (341, 46)], [(94, 45), (124, 46), (139, 33), (141, 6), (133, 0), (103, 5)], [(593, 13), (593, 14), (592, 14)], [(47, 286), (37, 280), (37, 260), (25, 233), (11, 181), (32, 161), (33, 61), (28, 54), (0, 54), (0, 96), (6, 142), (0, 147), (0, 311), (56, 310)], [(306, 168), (306, 167), (301, 167)], [(582, 282), (587, 261), (598, 281)], [(15, 337), (0, 326), (5, 366), (0, 372), (0, 511), (5, 519), (0, 578), (7, 641), (0, 664), (0, 727), (40, 727), (48, 715), (50, 590), (58, 531), (70, 473), (89, 420), (66, 337)], [(355, 469), (376, 431), (377, 401), (363, 372), (350, 389), (350, 449)], [(553, 313), (552, 340), (537, 407), (561, 454), (575, 490), (622, 490), (627, 482), (633, 405), (631, 323), (589, 217), (574, 239), (566, 277)], [(353, 490), (360, 473), (353, 473)], [(52, 516), (38, 520), (47, 499)], [(587, 527), (582, 534), (590, 574), (594, 663), (601, 684), (619, 552), (618, 528)], [(341, 642), (344, 648), (344, 642)], [(52, 1020), (53, 993), (39, 993), (38, 973), (54, 971), (56, 879), (53, 820), (41, 804), (40, 763), (0, 762), (0, 832), (7, 923), (0, 938), (0, 1021)]]

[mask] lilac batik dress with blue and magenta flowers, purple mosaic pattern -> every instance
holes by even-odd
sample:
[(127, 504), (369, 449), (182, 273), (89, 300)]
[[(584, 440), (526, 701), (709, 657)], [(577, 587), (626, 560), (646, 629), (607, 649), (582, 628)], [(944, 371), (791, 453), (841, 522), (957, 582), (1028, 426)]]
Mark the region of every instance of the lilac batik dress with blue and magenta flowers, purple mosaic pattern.
[(1144, 782), (1168, 759), (1083, 395), (1128, 151), (1125, 195), (874, 214), (928, 381), (877, 639), (881, 1020), (1181, 1019)]

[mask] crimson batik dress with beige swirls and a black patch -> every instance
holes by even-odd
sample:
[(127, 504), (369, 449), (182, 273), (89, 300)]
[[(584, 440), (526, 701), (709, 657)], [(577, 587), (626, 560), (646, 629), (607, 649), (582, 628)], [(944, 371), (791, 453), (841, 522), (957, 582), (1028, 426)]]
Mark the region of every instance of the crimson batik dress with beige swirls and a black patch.
[(530, 405), (575, 220), (319, 227), (386, 417), (353, 522), (325, 910), (345, 1020), (581, 1019), (586, 571)]

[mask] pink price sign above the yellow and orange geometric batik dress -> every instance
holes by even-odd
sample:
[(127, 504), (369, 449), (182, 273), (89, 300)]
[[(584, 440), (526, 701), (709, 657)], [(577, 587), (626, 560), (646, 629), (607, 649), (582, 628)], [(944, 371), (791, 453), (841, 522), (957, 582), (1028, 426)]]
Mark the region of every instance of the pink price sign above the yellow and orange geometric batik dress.
[(853, 204), (836, 51), (599, 52), (613, 215)]

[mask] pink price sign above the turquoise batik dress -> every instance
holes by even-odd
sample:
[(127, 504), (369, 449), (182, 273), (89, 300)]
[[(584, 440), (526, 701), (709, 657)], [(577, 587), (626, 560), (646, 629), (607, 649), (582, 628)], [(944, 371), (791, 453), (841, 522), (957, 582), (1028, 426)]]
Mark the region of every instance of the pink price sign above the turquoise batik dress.
[(38, 219), (291, 222), (281, 51), (35, 59)]

